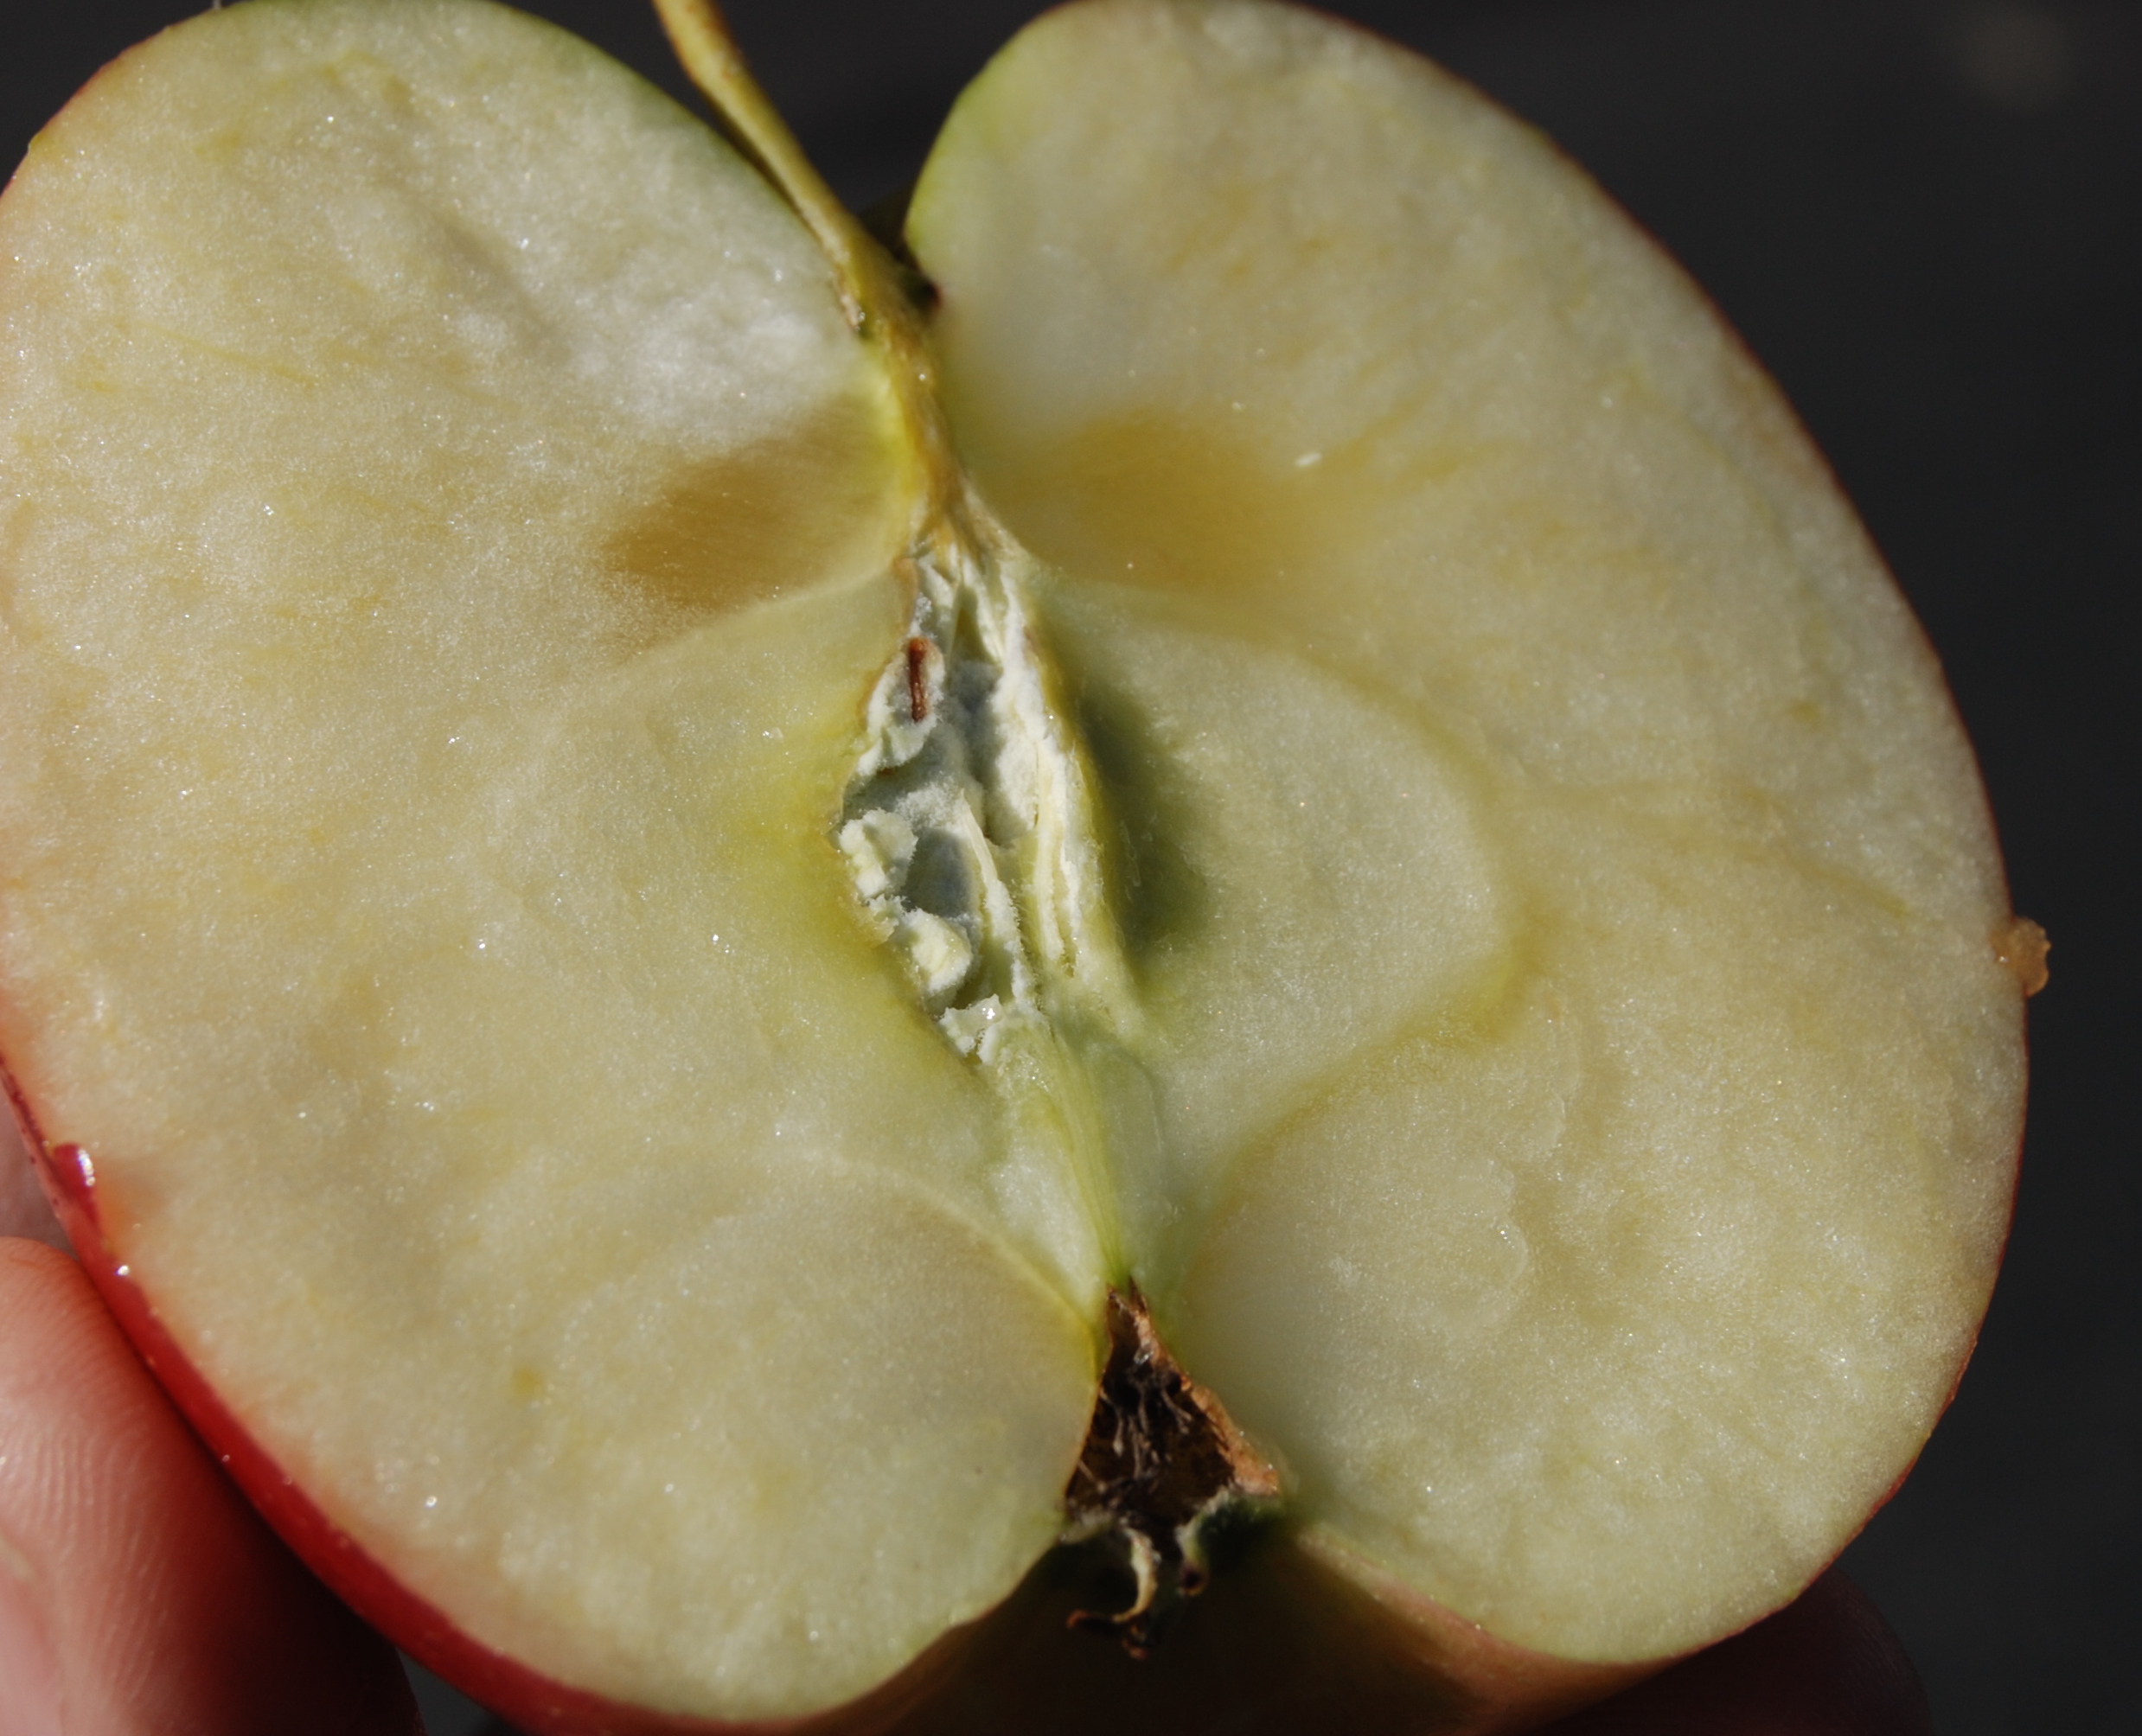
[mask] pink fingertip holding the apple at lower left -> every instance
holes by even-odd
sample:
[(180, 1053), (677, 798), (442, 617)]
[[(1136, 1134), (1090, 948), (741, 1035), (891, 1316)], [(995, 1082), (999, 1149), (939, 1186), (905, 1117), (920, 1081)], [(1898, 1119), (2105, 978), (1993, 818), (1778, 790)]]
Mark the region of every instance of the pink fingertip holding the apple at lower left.
[(69, 1730), (422, 1732), (386, 1642), (246, 1507), (81, 1267), (24, 1239), (0, 1239), (0, 1659), (49, 1657)]

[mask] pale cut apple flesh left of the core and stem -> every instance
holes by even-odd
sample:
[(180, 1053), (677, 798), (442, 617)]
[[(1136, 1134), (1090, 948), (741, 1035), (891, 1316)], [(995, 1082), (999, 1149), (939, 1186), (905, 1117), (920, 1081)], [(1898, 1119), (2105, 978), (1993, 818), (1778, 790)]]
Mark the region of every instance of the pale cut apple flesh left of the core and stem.
[(253, 4), (4, 253), (4, 1053), (174, 1338), (578, 1687), (795, 1712), (994, 1605), (1095, 1323), (831, 848), (908, 503), (808, 233), (561, 32)]

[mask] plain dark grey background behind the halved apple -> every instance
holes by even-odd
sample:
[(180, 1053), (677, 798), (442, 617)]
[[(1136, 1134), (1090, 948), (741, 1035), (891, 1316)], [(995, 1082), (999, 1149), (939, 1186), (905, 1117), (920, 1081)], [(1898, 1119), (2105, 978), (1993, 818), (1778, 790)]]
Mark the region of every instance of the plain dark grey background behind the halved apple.
[[(677, 88), (636, 0), (557, 17)], [(184, 0), (0, 0), (0, 150)], [(1037, 6), (735, 0), (835, 188), (919, 167)], [(1949, 1736), (2142, 1730), (2136, 631), (2142, 6), (1362, 0), (1553, 133), (1784, 383), (1949, 670), (2054, 938), (2016, 1235), (1977, 1359), (1846, 1554)], [(0, 263), (4, 272), (4, 263)], [(0, 479), (4, 486), (4, 479)], [(482, 1723), (424, 1685), (435, 1736)]]

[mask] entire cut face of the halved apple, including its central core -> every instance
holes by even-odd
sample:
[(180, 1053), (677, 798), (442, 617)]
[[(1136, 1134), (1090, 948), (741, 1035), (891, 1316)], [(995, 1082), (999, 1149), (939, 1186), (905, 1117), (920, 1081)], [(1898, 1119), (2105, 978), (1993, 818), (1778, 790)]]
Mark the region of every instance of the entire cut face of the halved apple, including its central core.
[(927, 332), (771, 161), (257, 0), (0, 203), (0, 1053), (129, 1331), (561, 1730), (957, 1670), (1133, 1286), (1424, 1723), (1791, 1599), (1968, 1353), (2022, 983), (1776, 392), (1279, 6), (1022, 34)]

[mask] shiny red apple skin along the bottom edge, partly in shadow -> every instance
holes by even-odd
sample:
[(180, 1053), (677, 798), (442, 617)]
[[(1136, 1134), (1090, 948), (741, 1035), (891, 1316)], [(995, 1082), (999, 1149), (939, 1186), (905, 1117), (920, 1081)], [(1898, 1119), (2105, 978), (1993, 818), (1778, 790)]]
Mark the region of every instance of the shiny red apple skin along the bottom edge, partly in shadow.
[[(947, 1633), (889, 1682), (812, 1719), (720, 1723), (619, 1704), (544, 1678), (409, 1593), (259, 1447), (193, 1368), (103, 1224), (94, 1158), (43, 1139), (15, 1077), (9, 1105), (51, 1209), (120, 1331), (253, 1507), (358, 1616), (424, 1668), (544, 1736), (983, 1736), (1017, 1727), (1189, 1736), (1302, 1730), (1345, 1708), (1354, 1727), (1418, 1736), (1532, 1730), (1673, 1659), (1598, 1665), (1512, 1646), (1315, 1537), (1223, 1539), (1219, 1571), (1150, 1659), (1071, 1633), (1122, 1588), (1103, 1545), (1056, 1550), (985, 1618)], [(1232, 1708), (1232, 1715), (1230, 1715)], [(1249, 1723), (1238, 1723), (1240, 1717)], [(1007, 1723), (1007, 1719), (1011, 1723)]]

